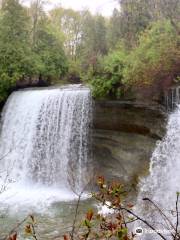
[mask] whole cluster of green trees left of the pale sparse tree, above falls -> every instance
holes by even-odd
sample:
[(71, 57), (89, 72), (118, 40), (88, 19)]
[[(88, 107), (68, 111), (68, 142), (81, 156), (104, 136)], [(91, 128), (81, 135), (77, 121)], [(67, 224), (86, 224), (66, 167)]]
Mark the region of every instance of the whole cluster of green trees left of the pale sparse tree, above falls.
[(30, 9), (19, 0), (4, 0), (0, 13), (0, 101), (25, 79), (45, 83), (67, 72), (61, 31), (43, 11), (42, 0)]

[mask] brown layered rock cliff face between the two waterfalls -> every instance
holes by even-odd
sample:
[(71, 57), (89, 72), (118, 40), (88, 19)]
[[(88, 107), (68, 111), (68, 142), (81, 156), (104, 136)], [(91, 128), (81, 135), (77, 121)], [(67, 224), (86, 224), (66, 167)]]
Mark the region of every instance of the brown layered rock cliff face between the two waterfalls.
[(160, 106), (95, 101), (93, 153), (97, 174), (130, 181), (147, 169), (155, 144), (165, 133)]

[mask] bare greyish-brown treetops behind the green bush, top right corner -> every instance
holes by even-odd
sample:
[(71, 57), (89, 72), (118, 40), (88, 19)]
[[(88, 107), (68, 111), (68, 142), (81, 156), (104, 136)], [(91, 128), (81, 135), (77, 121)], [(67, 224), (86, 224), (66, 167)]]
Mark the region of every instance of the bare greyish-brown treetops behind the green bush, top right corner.
[(119, 0), (119, 3), (121, 36), (130, 47), (136, 45), (138, 34), (153, 21), (168, 19), (178, 30), (179, 0)]

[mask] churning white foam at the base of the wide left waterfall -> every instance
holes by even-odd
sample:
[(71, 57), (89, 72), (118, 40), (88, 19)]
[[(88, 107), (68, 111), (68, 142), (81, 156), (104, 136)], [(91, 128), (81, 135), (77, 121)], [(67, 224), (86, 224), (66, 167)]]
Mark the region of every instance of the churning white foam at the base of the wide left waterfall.
[(5, 205), (14, 211), (35, 207), (43, 211), (54, 202), (71, 201), (77, 195), (67, 189), (57, 189), (45, 186), (23, 186), (13, 184), (11, 188), (4, 191), (0, 196), (1, 206)]

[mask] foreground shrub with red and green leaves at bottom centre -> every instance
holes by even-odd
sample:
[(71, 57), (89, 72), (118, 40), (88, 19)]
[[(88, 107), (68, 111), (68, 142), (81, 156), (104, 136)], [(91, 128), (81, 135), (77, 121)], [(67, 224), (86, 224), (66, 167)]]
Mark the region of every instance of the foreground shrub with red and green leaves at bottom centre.
[[(103, 216), (92, 209), (88, 210), (85, 218), (82, 220), (81, 229), (77, 232), (77, 239), (119, 239), (132, 240), (133, 235), (129, 234), (126, 228), (128, 221), (124, 216), (124, 208), (132, 208), (132, 204), (127, 204), (124, 186), (117, 181), (111, 183), (105, 181), (103, 176), (97, 179), (98, 191), (92, 193), (92, 196), (105, 205), (110, 210), (114, 210), (113, 215)], [(64, 240), (70, 240), (69, 235), (64, 235)]]

